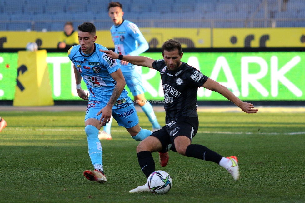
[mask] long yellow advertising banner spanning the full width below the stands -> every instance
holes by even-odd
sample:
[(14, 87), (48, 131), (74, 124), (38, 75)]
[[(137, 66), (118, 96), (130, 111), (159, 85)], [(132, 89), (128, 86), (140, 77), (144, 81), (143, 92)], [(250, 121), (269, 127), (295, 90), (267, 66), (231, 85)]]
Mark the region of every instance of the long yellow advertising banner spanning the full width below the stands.
[[(150, 48), (177, 39), (183, 48), (305, 47), (305, 28), (140, 28)], [(56, 48), (58, 32), (0, 32), (0, 48), (25, 48), (36, 42), (40, 49)], [(212, 33), (212, 37), (211, 37)], [(96, 32), (96, 43), (114, 48), (109, 30)], [(212, 43), (211, 43), (212, 40)]]

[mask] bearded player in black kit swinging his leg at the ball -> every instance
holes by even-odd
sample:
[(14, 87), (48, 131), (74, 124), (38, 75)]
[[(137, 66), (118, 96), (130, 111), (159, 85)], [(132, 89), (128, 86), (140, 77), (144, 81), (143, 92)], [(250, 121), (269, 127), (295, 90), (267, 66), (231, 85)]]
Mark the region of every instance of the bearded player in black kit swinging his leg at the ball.
[[(155, 171), (152, 152), (178, 152), (184, 156), (212, 161), (229, 171), (235, 180), (239, 179), (239, 167), (236, 156), (223, 157), (202, 145), (191, 144), (196, 135), (199, 122), (197, 114), (197, 89), (204, 87), (220, 93), (246, 113), (256, 113), (253, 104), (242, 102), (230, 90), (218, 82), (203, 75), (196, 68), (181, 62), (183, 56), (181, 44), (168, 40), (162, 45), (162, 60), (153, 60), (142, 56), (122, 56), (113, 51), (108, 53), (113, 59), (123, 59), (138, 66), (154, 68), (160, 72), (164, 100), (166, 125), (141, 141), (137, 147), (140, 167), (148, 178)], [(150, 192), (148, 184), (138, 186), (130, 193)]]

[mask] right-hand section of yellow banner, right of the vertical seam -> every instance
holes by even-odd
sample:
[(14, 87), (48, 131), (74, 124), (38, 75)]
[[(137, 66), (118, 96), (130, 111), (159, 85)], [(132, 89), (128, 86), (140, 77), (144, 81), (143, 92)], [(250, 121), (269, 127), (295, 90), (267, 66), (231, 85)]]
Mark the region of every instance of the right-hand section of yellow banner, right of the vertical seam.
[(214, 28), (214, 48), (305, 47), (305, 28)]

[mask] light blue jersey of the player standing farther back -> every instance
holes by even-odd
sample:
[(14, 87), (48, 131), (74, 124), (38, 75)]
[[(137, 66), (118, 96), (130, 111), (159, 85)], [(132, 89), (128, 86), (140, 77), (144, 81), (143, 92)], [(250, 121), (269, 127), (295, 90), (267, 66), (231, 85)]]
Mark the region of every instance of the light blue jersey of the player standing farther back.
[[(123, 20), (119, 26), (113, 25), (110, 32), (115, 47), (114, 51), (120, 55), (138, 56), (149, 48), (138, 26), (128, 20)], [(123, 73), (133, 72), (134, 69), (135, 67), (131, 63), (121, 67)]]

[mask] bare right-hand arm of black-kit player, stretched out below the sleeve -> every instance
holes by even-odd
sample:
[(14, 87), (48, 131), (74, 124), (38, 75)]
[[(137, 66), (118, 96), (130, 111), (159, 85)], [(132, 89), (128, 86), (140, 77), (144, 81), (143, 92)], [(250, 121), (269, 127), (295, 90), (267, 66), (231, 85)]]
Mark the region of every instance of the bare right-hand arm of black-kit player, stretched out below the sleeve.
[(246, 113), (256, 113), (258, 111), (258, 109), (254, 109), (253, 104), (243, 102), (238, 97), (236, 97), (230, 90), (228, 90), (227, 87), (224, 87), (223, 85), (210, 78), (207, 79), (207, 81), (202, 85), (202, 87), (218, 92)]

